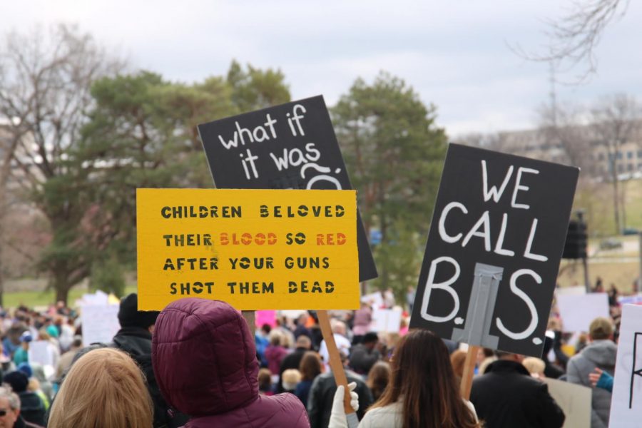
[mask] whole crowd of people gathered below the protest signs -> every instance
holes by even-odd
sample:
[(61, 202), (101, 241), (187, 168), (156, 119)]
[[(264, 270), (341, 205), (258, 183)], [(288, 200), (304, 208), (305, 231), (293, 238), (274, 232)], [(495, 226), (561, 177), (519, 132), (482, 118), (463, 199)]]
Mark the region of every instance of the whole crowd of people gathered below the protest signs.
[[(390, 297), (382, 293), (379, 305), (394, 306)], [(593, 320), (572, 357), (555, 311), (541, 359), (481, 349), (468, 400), (465, 345), (408, 331), (407, 317), (398, 332), (374, 332), (374, 302), (331, 314), (347, 391), (335, 383), (314, 311), (253, 333), (225, 302), (187, 298), (162, 312), (137, 305), (136, 294), (123, 298), (121, 330), (88, 347), (78, 314), (63, 304), (1, 313), (0, 427), (343, 428), (345, 394), (362, 428), (561, 427), (545, 377), (591, 387), (591, 428), (608, 426), (613, 318)], [(34, 340), (46, 342), (54, 367), (30, 361)]]

